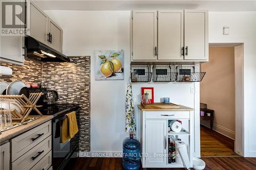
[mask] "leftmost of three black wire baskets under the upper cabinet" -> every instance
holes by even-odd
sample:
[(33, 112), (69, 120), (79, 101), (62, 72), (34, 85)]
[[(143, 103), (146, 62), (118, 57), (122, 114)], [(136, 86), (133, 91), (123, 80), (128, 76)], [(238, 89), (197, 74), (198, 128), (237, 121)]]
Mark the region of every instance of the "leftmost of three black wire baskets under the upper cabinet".
[(131, 66), (132, 82), (151, 82), (151, 65)]

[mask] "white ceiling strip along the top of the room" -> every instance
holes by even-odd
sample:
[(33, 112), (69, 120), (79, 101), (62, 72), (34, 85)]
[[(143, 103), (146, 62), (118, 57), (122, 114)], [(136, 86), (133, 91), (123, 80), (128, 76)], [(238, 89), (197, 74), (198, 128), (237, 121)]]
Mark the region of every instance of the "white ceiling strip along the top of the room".
[(71, 1), (35, 0), (43, 10), (176, 10), (208, 9), (209, 11), (256, 11), (253, 1)]

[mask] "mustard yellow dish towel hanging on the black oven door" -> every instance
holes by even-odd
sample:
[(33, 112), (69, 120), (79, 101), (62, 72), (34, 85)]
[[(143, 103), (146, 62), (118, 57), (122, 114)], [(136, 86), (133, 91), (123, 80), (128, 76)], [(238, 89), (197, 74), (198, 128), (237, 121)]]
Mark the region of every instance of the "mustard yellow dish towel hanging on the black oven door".
[(65, 143), (78, 132), (76, 112), (66, 114), (68, 118), (63, 119), (61, 128), (61, 143)]

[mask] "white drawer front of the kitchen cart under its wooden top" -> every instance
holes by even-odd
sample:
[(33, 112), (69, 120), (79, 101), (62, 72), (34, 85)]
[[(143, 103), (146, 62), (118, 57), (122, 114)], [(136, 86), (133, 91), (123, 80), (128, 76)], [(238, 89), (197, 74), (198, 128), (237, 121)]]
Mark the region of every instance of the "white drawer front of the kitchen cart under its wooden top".
[(148, 111), (145, 118), (157, 119), (183, 119), (189, 118), (189, 111)]

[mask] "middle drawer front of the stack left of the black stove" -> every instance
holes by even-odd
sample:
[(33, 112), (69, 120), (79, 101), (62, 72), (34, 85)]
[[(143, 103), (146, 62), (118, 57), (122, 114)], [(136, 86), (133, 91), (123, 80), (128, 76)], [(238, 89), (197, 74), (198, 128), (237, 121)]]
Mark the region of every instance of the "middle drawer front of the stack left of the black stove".
[(28, 170), (32, 168), (52, 149), (52, 136), (47, 137), (22, 157), (12, 162), (12, 170)]

